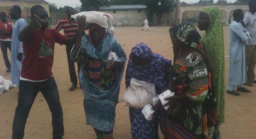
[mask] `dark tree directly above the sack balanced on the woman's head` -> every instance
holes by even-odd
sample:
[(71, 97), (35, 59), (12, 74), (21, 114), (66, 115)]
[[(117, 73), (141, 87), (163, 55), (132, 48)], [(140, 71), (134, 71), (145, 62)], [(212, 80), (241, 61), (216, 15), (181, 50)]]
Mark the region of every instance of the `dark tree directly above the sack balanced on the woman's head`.
[(80, 0), (82, 3), (81, 10), (88, 11), (90, 7), (97, 7), (101, 5), (109, 5), (109, 0)]

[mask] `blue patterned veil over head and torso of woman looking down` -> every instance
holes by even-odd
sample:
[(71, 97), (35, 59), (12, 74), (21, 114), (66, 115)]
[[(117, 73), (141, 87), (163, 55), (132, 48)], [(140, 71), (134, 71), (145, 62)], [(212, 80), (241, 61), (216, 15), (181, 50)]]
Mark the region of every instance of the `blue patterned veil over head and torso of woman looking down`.
[[(145, 67), (140, 67), (133, 61), (133, 55), (140, 58), (151, 59)], [(134, 48), (129, 56), (129, 61), (126, 69), (125, 84), (130, 86), (131, 78), (154, 83), (156, 87), (165, 88), (168, 83), (165, 80), (165, 73), (171, 66), (171, 60), (165, 59), (162, 55), (153, 53), (151, 49), (139, 43)]]

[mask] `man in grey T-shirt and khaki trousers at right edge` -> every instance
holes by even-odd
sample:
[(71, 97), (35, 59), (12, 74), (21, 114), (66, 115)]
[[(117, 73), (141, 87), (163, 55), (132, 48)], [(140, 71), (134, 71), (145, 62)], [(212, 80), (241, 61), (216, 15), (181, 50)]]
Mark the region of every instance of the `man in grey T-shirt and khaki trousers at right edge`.
[(251, 83), (256, 83), (255, 80), (255, 64), (256, 64), (256, 0), (250, 0), (249, 11), (244, 15), (241, 21), (245, 29), (250, 33), (251, 39), (248, 40), (248, 45), (245, 46), (245, 77), (244, 85), (253, 86)]

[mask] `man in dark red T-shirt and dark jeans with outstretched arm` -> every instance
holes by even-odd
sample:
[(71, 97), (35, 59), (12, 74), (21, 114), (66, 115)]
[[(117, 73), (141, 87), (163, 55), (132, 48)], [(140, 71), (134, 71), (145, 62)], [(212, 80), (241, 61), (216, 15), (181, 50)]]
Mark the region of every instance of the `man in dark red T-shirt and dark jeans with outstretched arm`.
[(22, 62), (12, 139), (24, 137), (29, 111), (39, 91), (52, 113), (52, 139), (62, 139), (64, 135), (63, 111), (52, 73), (54, 46), (55, 43), (72, 46), (76, 42), (77, 35), (68, 38), (55, 29), (48, 28), (49, 16), (41, 5), (31, 7), (31, 19), (29, 26), (19, 34), (19, 40), (23, 42), (25, 59)]

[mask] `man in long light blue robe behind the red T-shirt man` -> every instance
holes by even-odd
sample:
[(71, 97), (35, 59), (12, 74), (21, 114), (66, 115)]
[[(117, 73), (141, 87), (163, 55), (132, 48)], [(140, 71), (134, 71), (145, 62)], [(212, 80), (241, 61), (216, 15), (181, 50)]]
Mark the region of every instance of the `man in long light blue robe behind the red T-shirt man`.
[(24, 59), (22, 42), (19, 41), (19, 33), (28, 26), (25, 19), (21, 18), (21, 8), (14, 5), (10, 9), (11, 18), (16, 20), (12, 29), (11, 43), (11, 79), (12, 83), (19, 85), (19, 77), (21, 74), (22, 60)]

